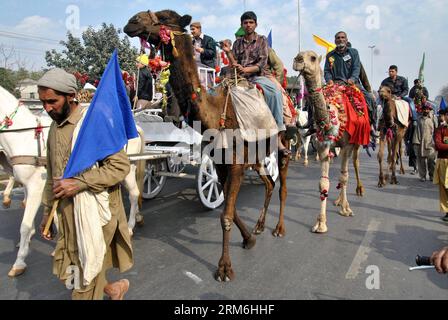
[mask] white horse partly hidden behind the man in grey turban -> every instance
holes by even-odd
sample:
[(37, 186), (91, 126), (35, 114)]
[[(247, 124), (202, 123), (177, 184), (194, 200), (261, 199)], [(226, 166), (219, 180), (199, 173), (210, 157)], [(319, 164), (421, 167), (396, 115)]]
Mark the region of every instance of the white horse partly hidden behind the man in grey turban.
[[(19, 252), (12, 269), (8, 273), (10, 277), (16, 277), (26, 270), (25, 259), (29, 253), (31, 237), (35, 234), (34, 219), (41, 204), (47, 178), (47, 171), (42, 165), (42, 159), (38, 163), (38, 158), (46, 155), (46, 139), (52, 120), (49, 117), (33, 115), (27, 107), (21, 105), (13, 95), (1, 86), (0, 119), (5, 119), (0, 123), (0, 145), (9, 157), (15, 180), (23, 184), (26, 194), (25, 212), (20, 226)], [(8, 119), (12, 120), (12, 124)], [(9, 127), (5, 128), (4, 124), (7, 122), (9, 122)], [(38, 127), (42, 130), (42, 133), (36, 139), (36, 129)], [(142, 137), (142, 130), (138, 128), (138, 131), (140, 137)], [(127, 149), (129, 154), (141, 153), (144, 149), (143, 139), (130, 140)], [(131, 202), (129, 225), (132, 228), (135, 226), (140, 196), (136, 172), (139, 171), (139, 176), (143, 175), (143, 173), (140, 173), (141, 170), (138, 170), (142, 167), (144, 167), (144, 164), (140, 166), (131, 165), (130, 173), (124, 181), (129, 190), (129, 200)], [(143, 181), (143, 178), (140, 179)]]

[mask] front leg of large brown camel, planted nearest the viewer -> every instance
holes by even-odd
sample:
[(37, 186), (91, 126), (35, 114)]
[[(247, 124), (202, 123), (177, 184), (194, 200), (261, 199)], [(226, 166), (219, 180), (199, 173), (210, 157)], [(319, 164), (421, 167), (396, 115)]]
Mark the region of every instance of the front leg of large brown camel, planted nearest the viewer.
[[(230, 232), (235, 219), (235, 204), (241, 188), (244, 175), (243, 165), (232, 165), (228, 169), (227, 181), (225, 184), (225, 208), (221, 215), (221, 227), (223, 232), (222, 255), (219, 260), (218, 270), (215, 274), (217, 281), (232, 281), (235, 274), (232, 269), (229, 253)], [(237, 221), (241, 222), (238, 217)]]

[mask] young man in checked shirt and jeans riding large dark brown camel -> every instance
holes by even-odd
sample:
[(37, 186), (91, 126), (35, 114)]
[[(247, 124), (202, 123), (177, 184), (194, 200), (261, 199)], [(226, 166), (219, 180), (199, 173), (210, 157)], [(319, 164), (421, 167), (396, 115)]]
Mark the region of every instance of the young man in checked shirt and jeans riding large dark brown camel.
[(291, 152), (281, 141), (281, 136), (286, 131), (283, 122), (283, 96), (279, 88), (266, 77), (269, 74), (269, 46), (266, 37), (255, 32), (257, 26), (257, 15), (252, 11), (245, 12), (241, 16), (241, 27), (244, 28), (245, 35), (235, 41), (233, 49), (226, 42), (221, 43), (221, 49), (227, 53), (231, 66), (241, 76), (263, 89), (266, 103), (278, 126), (280, 154), (288, 156)]

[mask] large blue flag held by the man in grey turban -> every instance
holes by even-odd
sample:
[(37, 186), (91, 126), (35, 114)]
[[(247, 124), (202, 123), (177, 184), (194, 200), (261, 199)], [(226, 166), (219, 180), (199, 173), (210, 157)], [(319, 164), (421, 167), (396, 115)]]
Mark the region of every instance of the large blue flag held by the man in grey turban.
[(63, 178), (72, 178), (91, 168), (137, 137), (115, 50), (87, 111)]

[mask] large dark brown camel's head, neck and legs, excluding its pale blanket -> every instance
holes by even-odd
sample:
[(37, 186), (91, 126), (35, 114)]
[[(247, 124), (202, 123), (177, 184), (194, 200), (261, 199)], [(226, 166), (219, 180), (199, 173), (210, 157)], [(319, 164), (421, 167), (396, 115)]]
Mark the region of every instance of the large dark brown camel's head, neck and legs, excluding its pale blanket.
[[(227, 101), (225, 127), (226, 129), (237, 129), (239, 126), (232, 101), (231, 99), (226, 99), (227, 89), (219, 87), (216, 89), (215, 94), (208, 95), (204, 88), (201, 88), (197, 65), (193, 58), (191, 37), (185, 32), (185, 27), (190, 22), (191, 16), (180, 16), (171, 10), (140, 12), (129, 20), (124, 28), (124, 32), (130, 37), (140, 37), (156, 47), (160, 46), (165, 59), (171, 63), (170, 84), (184, 114), (188, 115), (190, 119), (201, 121), (205, 129), (219, 129), (221, 114), (225, 109)], [(172, 31), (171, 41), (163, 42), (160, 37), (160, 31), (162, 30), (163, 32), (166, 29)], [(286, 139), (283, 139), (283, 144), (289, 147), (289, 141), (286, 141)], [(233, 154), (233, 164), (216, 165), (219, 181), (224, 186), (225, 195), (225, 207), (221, 215), (223, 231), (222, 256), (215, 274), (215, 278), (218, 281), (231, 281), (235, 277), (229, 252), (230, 232), (233, 223), (235, 222), (241, 232), (244, 248), (251, 249), (256, 242), (255, 236), (248, 231), (246, 225), (238, 216), (235, 206), (245, 169), (249, 165), (247, 163), (238, 164), (236, 153), (234, 152)], [(247, 145), (244, 146), (244, 159), (245, 161), (248, 159)], [(285, 235), (284, 210), (287, 195), (286, 176), (289, 157), (283, 157), (281, 160), (279, 161), (281, 205), (279, 221), (272, 232), (275, 237), (283, 237)], [(259, 174), (265, 172), (260, 162), (253, 167)], [(254, 234), (260, 234), (264, 231), (266, 213), (275, 186), (270, 176), (260, 174), (260, 177), (265, 183), (266, 196), (260, 218), (253, 230)]]

